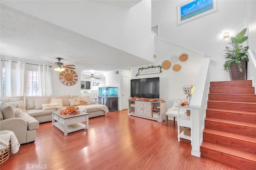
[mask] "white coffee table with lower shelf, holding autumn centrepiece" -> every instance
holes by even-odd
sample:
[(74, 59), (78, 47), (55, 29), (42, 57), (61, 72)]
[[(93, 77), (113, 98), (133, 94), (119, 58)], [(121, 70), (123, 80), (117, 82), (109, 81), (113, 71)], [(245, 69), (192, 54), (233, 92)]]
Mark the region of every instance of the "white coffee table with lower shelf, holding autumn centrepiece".
[[(61, 115), (59, 111), (52, 111), (52, 126), (56, 126), (62, 132), (64, 136), (67, 136), (68, 133), (78, 131), (81, 129), (88, 129), (89, 125), (89, 113), (80, 112), (76, 115)], [(58, 121), (58, 122), (55, 122)], [(81, 122), (86, 121), (86, 124)]]

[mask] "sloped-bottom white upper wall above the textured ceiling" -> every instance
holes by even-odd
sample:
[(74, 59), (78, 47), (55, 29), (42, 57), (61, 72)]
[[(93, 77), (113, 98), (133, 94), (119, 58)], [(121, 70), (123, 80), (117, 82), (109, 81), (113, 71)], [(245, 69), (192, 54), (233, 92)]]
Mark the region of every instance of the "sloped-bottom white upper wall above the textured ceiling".
[(91, 1), (1, 1), (66, 29), (149, 61), (154, 55), (151, 1), (132, 8)]

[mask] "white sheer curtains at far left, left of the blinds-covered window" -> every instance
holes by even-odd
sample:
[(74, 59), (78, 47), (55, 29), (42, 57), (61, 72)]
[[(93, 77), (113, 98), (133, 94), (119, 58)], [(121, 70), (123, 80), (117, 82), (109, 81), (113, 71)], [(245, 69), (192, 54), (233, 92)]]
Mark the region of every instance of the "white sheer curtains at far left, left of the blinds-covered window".
[(5, 68), (4, 96), (24, 96), (24, 75), (27, 72), (25, 62), (3, 61)]

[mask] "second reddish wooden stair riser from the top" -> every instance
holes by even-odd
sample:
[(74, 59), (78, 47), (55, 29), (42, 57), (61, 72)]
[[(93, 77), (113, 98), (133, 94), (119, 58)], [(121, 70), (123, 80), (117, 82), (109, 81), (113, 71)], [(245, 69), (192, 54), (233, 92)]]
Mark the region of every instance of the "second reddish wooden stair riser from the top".
[(210, 87), (212, 94), (254, 94), (254, 87)]

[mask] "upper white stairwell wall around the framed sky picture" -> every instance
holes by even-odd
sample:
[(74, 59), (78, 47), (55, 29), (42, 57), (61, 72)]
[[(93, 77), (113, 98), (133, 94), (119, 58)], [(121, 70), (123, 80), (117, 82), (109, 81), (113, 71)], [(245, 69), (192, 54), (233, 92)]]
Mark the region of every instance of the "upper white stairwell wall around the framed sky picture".
[[(223, 33), (230, 32), (235, 36), (248, 23), (251, 31), (249, 39), (251, 48), (255, 44), (255, 2), (244, 0), (218, 0), (218, 11), (207, 16), (177, 26), (176, 7), (187, 0), (169, 0), (152, 10), (152, 26), (159, 24), (159, 37), (183, 45), (190, 49), (202, 51), (218, 62), (210, 63), (210, 80), (230, 80), (229, 73), (223, 70), (226, 61), (225, 47), (230, 40), (223, 39)], [(246, 3), (250, 6), (250, 14), (246, 14)], [(248, 18), (246, 18), (248, 17)]]

